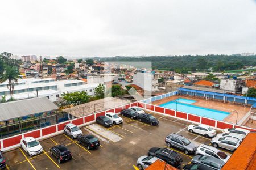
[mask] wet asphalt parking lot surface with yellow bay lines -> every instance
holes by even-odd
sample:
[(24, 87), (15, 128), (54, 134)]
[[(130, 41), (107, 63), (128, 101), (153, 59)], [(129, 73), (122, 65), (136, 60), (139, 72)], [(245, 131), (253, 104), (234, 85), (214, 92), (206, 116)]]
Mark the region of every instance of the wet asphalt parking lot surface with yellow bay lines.
[[(109, 131), (110, 136), (104, 136), (99, 131), (93, 129), (97, 127), (89, 125), (81, 128), (84, 134), (92, 133), (100, 139), (101, 146), (97, 150), (87, 150), (79, 145), (76, 140), (72, 140), (64, 134), (40, 141), (44, 151), (40, 155), (28, 156), (24, 150), (18, 148), (6, 152), (4, 156), (7, 161), (7, 169), (134, 169), (139, 156), (147, 155), (151, 147), (167, 147), (164, 142), (165, 137), (170, 133), (179, 133), (190, 139), (196, 145), (201, 143), (210, 145), (210, 138), (205, 138), (198, 134), (189, 133), (187, 126), (191, 122), (177, 120), (172, 117), (154, 113), (159, 118), (158, 126), (150, 126), (123, 118), (123, 124), (113, 125), (110, 128), (100, 128)], [(117, 139), (117, 140), (114, 140)], [(59, 164), (57, 159), (49, 154), (49, 149), (55, 145), (66, 145), (72, 152), (72, 160)], [(182, 151), (172, 148), (183, 158), (183, 167), (191, 162), (193, 155), (185, 155)], [(225, 151), (228, 155), (232, 152)]]

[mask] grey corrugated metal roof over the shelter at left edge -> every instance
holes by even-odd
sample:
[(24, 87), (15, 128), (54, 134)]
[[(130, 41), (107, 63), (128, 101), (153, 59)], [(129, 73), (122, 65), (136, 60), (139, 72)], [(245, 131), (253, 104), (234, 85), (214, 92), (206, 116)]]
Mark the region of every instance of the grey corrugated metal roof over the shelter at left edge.
[(53, 111), (58, 107), (47, 97), (36, 97), (0, 104), (0, 121)]

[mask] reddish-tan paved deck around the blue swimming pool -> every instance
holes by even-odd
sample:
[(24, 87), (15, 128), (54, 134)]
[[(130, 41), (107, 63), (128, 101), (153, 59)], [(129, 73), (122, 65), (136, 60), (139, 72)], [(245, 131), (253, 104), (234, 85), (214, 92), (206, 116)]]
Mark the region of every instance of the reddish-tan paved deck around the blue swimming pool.
[(237, 104), (233, 104), (233, 103), (221, 103), (220, 101), (198, 99), (198, 98), (194, 98), (194, 97), (191, 98), (191, 97), (180, 96), (180, 95), (179, 96), (171, 96), (171, 97), (167, 97), (165, 99), (153, 101), (152, 104), (160, 105), (163, 103), (167, 103), (168, 101), (175, 100), (177, 98), (196, 100), (196, 102), (192, 103), (191, 105), (197, 105), (199, 107), (216, 109), (219, 111), (231, 112), (229, 114), (229, 116), (224, 118), (223, 121), (232, 122), (234, 124), (236, 124), (236, 117), (237, 117), (237, 114), (234, 112), (234, 110), (236, 110), (238, 112), (238, 121), (241, 120), (241, 118), (243, 116), (245, 116), (245, 114), (250, 111), (250, 107), (243, 107), (243, 105), (237, 105)]

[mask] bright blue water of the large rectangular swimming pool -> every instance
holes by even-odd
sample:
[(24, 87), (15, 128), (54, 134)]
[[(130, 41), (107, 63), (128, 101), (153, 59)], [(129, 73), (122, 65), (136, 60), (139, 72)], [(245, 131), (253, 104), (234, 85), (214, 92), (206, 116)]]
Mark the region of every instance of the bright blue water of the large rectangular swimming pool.
[[(186, 99), (186, 100), (188, 100), (188, 99)], [(181, 100), (181, 101), (184, 101), (184, 100)], [(220, 121), (224, 120), (224, 118), (230, 114), (229, 112), (199, 107), (196, 105), (186, 104), (184, 102), (180, 103), (179, 100), (177, 100), (177, 99), (176, 99), (176, 101), (173, 100), (173, 101), (168, 101), (167, 103), (161, 104), (160, 107), (173, 109), (173, 110), (177, 110), (177, 111), (185, 112), (185, 113), (196, 114), (197, 116), (213, 118), (215, 120), (220, 120)]]

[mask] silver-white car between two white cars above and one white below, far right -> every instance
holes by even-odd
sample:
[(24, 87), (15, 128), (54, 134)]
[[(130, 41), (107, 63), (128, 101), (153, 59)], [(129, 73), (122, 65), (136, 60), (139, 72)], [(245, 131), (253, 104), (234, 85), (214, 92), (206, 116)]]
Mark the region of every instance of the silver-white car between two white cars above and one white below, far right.
[(212, 141), (210, 141), (214, 147), (222, 147), (226, 150), (234, 151), (237, 149), (237, 147), (240, 145), (241, 140), (237, 138), (231, 138), (231, 137), (223, 137), (223, 138), (212, 138)]

